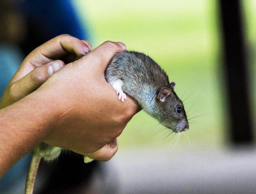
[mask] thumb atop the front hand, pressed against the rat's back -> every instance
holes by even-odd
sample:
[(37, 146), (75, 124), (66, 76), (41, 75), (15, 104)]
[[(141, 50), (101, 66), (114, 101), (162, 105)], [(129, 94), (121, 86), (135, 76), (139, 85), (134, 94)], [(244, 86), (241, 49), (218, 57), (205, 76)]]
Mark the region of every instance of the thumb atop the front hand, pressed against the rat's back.
[[(82, 64), (95, 64), (95, 68), (105, 71), (112, 58), (120, 51), (126, 50), (126, 46), (121, 42), (106, 41), (99, 47), (92, 50), (86, 56), (81, 58)], [(88, 61), (89, 60), (89, 61)], [(84, 61), (84, 63), (83, 63)]]

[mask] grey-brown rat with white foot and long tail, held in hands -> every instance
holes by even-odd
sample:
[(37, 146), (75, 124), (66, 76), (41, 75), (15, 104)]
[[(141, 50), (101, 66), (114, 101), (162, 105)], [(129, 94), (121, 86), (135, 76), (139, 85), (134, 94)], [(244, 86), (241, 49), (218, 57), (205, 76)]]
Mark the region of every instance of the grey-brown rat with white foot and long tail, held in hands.
[[(170, 83), (168, 75), (149, 56), (135, 51), (121, 51), (109, 63), (105, 79), (116, 90), (122, 102), (129, 95), (141, 109), (173, 132), (180, 133), (189, 129), (184, 106), (174, 92), (175, 82)], [(62, 150), (61, 147), (52, 147), (44, 142), (34, 149), (25, 194), (33, 193), (41, 158), (52, 161)]]

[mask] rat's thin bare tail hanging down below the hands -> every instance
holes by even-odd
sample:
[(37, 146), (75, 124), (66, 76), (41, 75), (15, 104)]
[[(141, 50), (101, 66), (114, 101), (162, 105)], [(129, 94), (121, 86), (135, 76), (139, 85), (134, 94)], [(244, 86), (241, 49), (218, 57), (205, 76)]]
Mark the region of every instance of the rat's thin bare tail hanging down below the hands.
[(26, 180), (26, 186), (25, 186), (25, 194), (33, 194), (34, 189), (34, 183), (36, 180), (36, 173), (41, 160), (41, 156), (33, 153), (29, 170), (28, 170), (28, 176)]

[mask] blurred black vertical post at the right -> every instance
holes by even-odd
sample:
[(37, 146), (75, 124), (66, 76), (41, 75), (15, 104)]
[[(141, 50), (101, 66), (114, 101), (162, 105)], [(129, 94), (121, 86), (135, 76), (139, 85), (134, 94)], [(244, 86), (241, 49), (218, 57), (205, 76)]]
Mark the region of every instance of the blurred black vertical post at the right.
[[(241, 5), (239, 0), (220, 1), (225, 52), (228, 106), (231, 118), (230, 134), (235, 144), (253, 140), (251, 108), (246, 68), (246, 53), (242, 31)], [(228, 111), (228, 110), (227, 110)]]

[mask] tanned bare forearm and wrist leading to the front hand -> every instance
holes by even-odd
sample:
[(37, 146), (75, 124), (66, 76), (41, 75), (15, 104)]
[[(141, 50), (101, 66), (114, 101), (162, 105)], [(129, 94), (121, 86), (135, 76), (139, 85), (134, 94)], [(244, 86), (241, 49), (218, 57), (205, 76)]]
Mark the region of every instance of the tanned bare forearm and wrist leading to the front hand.
[(0, 177), (49, 133), (51, 103), (38, 102), (35, 93), (0, 110)]

